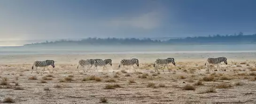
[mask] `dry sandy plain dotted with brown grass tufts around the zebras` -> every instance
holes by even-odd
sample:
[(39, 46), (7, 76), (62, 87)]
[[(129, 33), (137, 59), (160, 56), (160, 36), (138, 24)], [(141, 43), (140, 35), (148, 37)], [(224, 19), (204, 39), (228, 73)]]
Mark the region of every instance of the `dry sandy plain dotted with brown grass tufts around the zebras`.
[[(228, 65), (208, 72), (209, 56), (227, 57)], [(155, 72), (155, 59), (167, 57), (175, 58), (177, 67)], [(131, 58), (140, 61), (136, 72), (117, 70), (120, 59)], [(39, 74), (31, 74), (33, 61), (46, 59), (56, 61), (55, 68), (48, 67), (53, 73), (42, 74), (39, 67)], [(78, 73), (79, 59), (112, 59), (113, 66), (109, 74), (101, 73), (102, 67), (100, 73), (81, 67)], [(0, 102), (10, 97), (18, 104), (98, 104), (103, 98), (109, 104), (256, 104), (255, 71), (255, 53), (1, 55)]]

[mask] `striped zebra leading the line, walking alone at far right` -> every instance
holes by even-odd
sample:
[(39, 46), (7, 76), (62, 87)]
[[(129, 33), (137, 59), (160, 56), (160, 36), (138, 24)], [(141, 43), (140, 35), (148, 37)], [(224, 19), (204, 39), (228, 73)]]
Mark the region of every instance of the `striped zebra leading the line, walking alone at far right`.
[[(213, 64), (213, 65), (216, 65), (217, 64), (217, 68), (216, 70), (219, 68), (219, 64), (221, 62), (224, 62), (226, 65), (227, 65), (227, 58), (208, 58), (205, 62), (205, 67), (206, 67), (206, 63), (208, 62), (208, 65), (209, 64)], [(207, 65), (207, 71), (209, 71), (209, 67)]]

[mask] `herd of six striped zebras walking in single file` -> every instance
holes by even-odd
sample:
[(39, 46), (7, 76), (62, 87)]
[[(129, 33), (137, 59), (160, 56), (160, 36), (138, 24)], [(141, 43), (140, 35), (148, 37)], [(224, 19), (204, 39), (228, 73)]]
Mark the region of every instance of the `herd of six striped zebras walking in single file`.
[[(217, 65), (217, 68), (219, 68), (219, 64), (221, 62), (224, 62), (226, 65), (227, 65), (227, 59), (226, 58), (208, 58), (205, 62), (205, 67), (207, 67), (207, 70), (209, 71), (209, 67), (208, 65), (206, 66), (206, 63), (208, 62), (208, 65), (209, 64), (213, 64), (213, 65)], [(158, 66), (159, 65), (164, 65), (164, 67), (169, 64), (169, 63), (172, 63), (174, 66), (176, 66), (175, 64), (175, 61), (174, 61), (174, 58), (167, 58), (167, 59), (156, 59), (155, 60), (155, 63), (154, 63), (154, 67), (155, 67), (155, 71), (158, 71)], [(77, 66), (82, 66), (83, 67), (83, 70), (85, 72), (85, 66), (88, 66), (88, 70), (87, 71), (90, 71), (90, 67), (92, 67), (94, 65), (94, 71), (95, 69), (98, 71), (97, 67), (103, 67), (103, 70), (104, 70), (104, 67), (106, 67), (106, 65), (109, 64), (110, 66), (112, 66), (112, 60), (111, 59), (105, 59), (105, 60), (102, 60), (102, 59), (81, 59), (78, 61), (78, 65)], [(134, 64), (136, 64), (138, 67), (139, 67), (139, 60), (138, 59), (122, 59), (120, 61), (120, 64), (118, 66), (118, 70), (120, 67), (124, 67), (124, 66), (131, 66), (133, 67), (134, 71), (136, 72), (135, 70), (135, 67), (133, 66)], [(52, 67), (55, 67), (54, 66), (54, 60), (45, 60), (45, 61), (35, 61), (33, 66), (32, 66), (32, 72), (31, 74), (33, 73), (33, 68), (35, 67), (36, 69), (36, 72), (38, 73), (37, 71), (37, 68), (38, 67), (44, 67), (43, 69), (43, 73), (45, 71), (45, 67), (48, 67), (48, 66), (52, 66)], [(163, 69), (164, 69), (163, 67)], [(106, 67), (107, 68), (107, 67)], [(129, 68), (129, 69), (130, 69)], [(168, 68), (168, 67), (167, 67)], [(77, 67), (78, 69), (78, 67)], [(48, 69), (49, 70), (49, 69)], [(103, 71), (102, 70), (102, 71)], [(50, 71), (50, 70), (49, 70)], [(86, 72), (87, 72), (86, 71)], [(78, 71), (79, 73), (79, 71)], [(108, 70), (108, 73), (109, 73), (109, 70)]]

